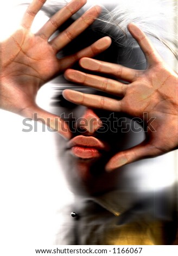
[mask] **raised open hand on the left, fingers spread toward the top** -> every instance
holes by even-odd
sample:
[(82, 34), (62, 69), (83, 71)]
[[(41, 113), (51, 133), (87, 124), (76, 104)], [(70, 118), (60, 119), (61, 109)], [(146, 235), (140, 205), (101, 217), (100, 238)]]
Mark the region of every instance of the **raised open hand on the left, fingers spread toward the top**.
[[(93, 57), (111, 44), (108, 37), (102, 38), (91, 46), (62, 59), (56, 53), (62, 50), (73, 38), (84, 31), (100, 12), (96, 6), (86, 11), (65, 31), (49, 41), (50, 36), (76, 13), (86, 0), (73, 0), (56, 13), (36, 34), (30, 32), (35, 15), (45, 0), (33, 0), (24, 13), (20, 29), (1, 43), (1, 101), (2, 109), (18, 113), (24, 117), (42, 118), (52, 129), (58, 121), (58, 131), (66, 138), (71, 137), (67, 124), (56, 115), (39, 108), (35, 97), (39, 88), (54, 76), (71, 67), (81, 57)], [(50, 122), (48, 121), (50, 120)]]

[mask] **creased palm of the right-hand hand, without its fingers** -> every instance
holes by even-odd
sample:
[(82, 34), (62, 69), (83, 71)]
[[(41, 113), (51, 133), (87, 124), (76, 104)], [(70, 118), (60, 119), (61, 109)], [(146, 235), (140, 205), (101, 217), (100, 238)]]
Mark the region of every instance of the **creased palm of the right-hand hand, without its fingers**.
[(176, 74), (166, 64), (159, 63), (141, 72), (122, 102), (126, 113), (143, 119), (147, 124), (152, 154), (154, 148), (156, 154), (162, 154), (177, 147), (176, 80)]

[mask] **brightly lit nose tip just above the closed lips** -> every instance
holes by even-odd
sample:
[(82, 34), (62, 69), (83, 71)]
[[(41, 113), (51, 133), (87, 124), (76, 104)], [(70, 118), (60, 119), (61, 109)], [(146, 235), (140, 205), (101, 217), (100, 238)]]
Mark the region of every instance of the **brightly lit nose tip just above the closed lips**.
[(92, 136), (101, 126), (102, 122), (98, 115), (89, 108), (87, 108), (82, 117), (77, 120), (78, 131), (87, 136)]

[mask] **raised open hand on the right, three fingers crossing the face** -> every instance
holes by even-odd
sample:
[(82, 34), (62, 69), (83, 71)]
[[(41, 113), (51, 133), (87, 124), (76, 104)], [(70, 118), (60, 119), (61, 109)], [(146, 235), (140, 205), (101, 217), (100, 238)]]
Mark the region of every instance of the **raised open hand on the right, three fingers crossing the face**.
[(106, 164), (107, 171), (139, 159), (162, 155), (178, 146), (177, 75), (163, 62), (141, 29), (132, 23), (128, 28), (147, 58), (147, 70), (133, 70), (90, 58), (82, 58), (80, 65), (128, 81), (129, 84), (71, 69), (65, 72), (68, 80), (122, 97), (122, 100), (117, 100), (65, 90), (63, 96), (67, 100), (90, 108), (123, 112), (142, 118), (147, 123), (147, 139), (113, 156)]

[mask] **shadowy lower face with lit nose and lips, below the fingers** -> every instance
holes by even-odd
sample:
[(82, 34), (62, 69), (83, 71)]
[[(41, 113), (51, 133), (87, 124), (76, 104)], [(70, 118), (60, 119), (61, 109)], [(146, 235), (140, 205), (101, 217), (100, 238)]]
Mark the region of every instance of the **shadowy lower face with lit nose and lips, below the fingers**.
[[(105, 96), (82, 87), (77, 90)], [(137, 127), (120, 113), (74, 105), (63, 98), (62, 90), (54, 99), (53, 113), (68, 122), (73, 136), (66, 141), (56, 134), (61, 167), (72, 190), (82, 196), (85, 192), (98, 194), (117, 188), (125, 167), (106, 173), (105, 165), (118, 151), (136, 144), (132, 133)], [(136, 137), (137, 143), (143, 139), (141, 133)]]

